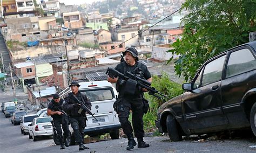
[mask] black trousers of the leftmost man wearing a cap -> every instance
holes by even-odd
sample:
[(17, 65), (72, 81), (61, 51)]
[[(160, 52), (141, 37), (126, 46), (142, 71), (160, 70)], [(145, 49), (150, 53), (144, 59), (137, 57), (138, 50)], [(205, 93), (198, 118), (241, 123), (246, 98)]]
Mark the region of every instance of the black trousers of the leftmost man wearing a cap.
[[(54, 118), (53, 123), (56, 128), (58, 138), (62, 138), (62, 129), (64, 131), (64, 136), (69, 136), (69, 122), (64, 115), (62, 115), (62, 117)], [(62, 125), (62, 128), (60, 127), (60, 125)]]

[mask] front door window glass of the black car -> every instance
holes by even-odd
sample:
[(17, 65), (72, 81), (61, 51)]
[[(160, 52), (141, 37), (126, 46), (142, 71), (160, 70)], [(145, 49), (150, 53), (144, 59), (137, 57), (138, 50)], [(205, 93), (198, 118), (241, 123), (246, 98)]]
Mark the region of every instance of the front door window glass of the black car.
[(213, 82), (217, 82), (221, 79), (225, 58), (226, 55), (223, 55), (222, 57), (219, 57), (205, 65), (202, 86), (212, 84)]

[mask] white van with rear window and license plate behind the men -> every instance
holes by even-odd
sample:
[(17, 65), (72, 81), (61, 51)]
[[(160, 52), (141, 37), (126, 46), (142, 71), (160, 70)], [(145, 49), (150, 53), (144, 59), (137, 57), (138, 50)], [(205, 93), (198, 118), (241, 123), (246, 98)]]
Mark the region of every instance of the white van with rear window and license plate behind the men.
[[(118, 96), (116, 89), (107, 81), (79, 82), (79, 85), (79, 91), (90, 99), (92, 103), (91, 112), (98, 120), (96, 121), (91, 115), (87, 114), (88, 121), (86, 121), (84, 133), (90, 136), (110, 133), (112, 139), (119, 138), (121, 124), (117, 113), (113, 109), (113, 103)], [(59, 93), (59, 95), (63, 97), (69, 92), (71, 91), (67, 88), (62, 93)], [(75, 139), (72, 137), (73, 129), (71, 126), (69, 129), (71, 131), (71, 144), (74, 144)]]

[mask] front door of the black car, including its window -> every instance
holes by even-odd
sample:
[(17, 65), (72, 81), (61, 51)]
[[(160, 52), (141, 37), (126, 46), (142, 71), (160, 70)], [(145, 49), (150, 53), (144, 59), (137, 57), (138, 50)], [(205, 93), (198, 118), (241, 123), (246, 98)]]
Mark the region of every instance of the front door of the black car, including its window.
[(216, 130), (228, 123), (221, 108), (221, 78), (225, 59), (224, 53), (207, 61), (192, 81), (193, 91), (183, 95), (184, 120), (191, 133)]

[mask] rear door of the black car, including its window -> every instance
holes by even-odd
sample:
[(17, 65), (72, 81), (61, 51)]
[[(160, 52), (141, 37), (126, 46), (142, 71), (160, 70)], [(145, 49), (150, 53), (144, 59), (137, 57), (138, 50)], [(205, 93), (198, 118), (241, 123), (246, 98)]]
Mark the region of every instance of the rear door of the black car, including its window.
[(221, 86), (223, 110), (232, 128), (248, 123), (242, 107), (242, 98), (256, 86), (256, 60), (252, 48), (242, 46), (230, 51), (225, 79)]

